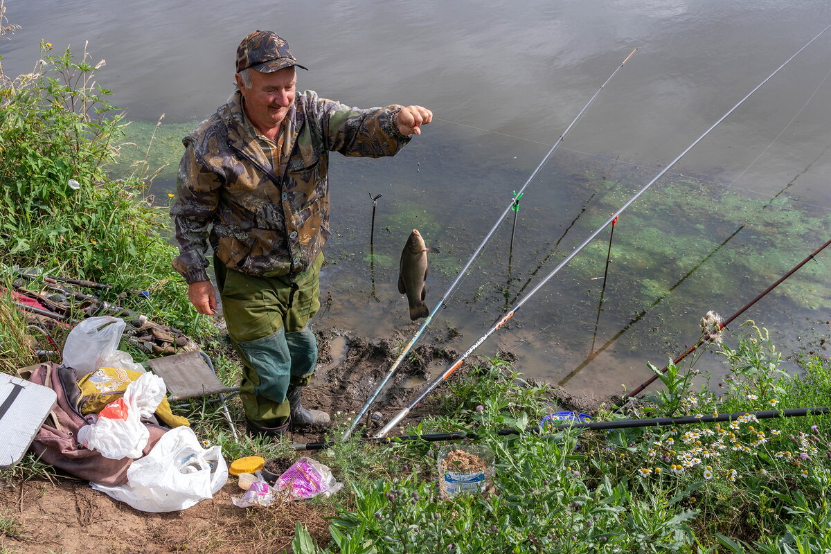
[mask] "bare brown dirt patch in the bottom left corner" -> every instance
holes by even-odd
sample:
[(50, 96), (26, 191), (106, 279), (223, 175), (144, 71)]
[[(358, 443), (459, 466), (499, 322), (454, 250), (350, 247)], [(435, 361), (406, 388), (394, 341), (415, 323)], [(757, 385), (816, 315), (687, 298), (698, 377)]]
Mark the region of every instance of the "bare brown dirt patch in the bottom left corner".
[[(251, 517), (251, 510), (231, 503), (241, 496), (236, 479), (229, 479), (214, 498), (182, 512), (139, 512), (86, 482), (56, 479), (30, 481), (0, 489), (0, 517), (12, 521), (0, 531), (0, 552), (20, 554), (272, 554), (288, 549), (296, 522), (312, 537), (328, 542), (327, 522), (310, 503), (268, 507)], [(11, 533), (9, 532), (11, 527)]]

